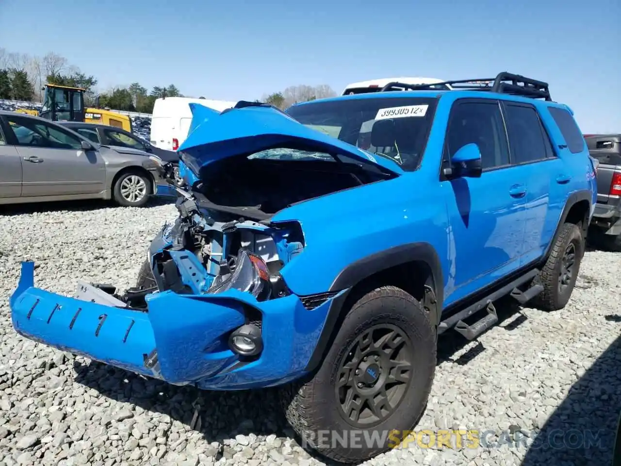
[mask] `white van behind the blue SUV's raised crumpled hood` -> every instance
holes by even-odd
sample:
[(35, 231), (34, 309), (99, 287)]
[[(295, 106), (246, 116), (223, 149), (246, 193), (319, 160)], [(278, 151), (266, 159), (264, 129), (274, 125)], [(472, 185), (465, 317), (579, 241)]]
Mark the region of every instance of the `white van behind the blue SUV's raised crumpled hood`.
[(163, 97), (156, 99), (151, 119), (150, 141), (155, 147), (177, 150), (188, 137), (192, 122), (189, 104), (196, 103), (219, 112), (235, 106), (237, 102), (224, 100), (193, 99), (188, 97)]

